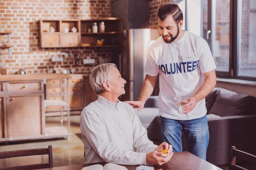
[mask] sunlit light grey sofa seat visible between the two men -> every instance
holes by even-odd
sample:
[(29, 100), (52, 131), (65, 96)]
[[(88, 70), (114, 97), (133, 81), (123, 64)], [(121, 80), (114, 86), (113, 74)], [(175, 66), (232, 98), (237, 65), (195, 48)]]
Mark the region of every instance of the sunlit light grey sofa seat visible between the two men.
[(134, 108), (135, 113), (140, 119), (142, 125), (147, 129), (150, 123), (159, 116), (158, 108), (143, 108), (141, 111), (138, 111), (137, 108)]

